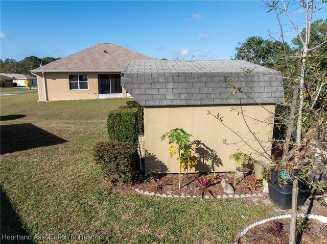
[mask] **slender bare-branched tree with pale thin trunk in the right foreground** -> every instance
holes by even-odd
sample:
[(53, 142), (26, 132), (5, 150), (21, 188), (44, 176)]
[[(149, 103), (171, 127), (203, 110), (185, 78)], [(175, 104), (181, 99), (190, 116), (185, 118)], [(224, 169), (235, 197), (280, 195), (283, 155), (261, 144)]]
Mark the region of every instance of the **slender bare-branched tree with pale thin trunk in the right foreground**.
[[(309, 107), (309, 110), (311, 113), (314, 113), (313, 107), (307, 106), (307, 101), (305, 100), (307, 95), (306, 92), (308, 91), (306, 84), (308, 83), (308, 79), (310, 76), (308, 76), (308, 71), (310, 71), (310, 56), (314, 54), (315, 50), (317, 50), (320, 46), (323, 46), (326, 44), (326, 40), (318, 40), (316, 39), (318, 43), (314, 43), (311, 39), (312, 36), (312, 26), (316, 24), (312, 24), (312, 16), (314, 11), (320, 10), (322, 7), (324, 7), (324, 1), (322, 2), (322, 6), (317, 6), (316, 2), (314, 0), (306, 0), (306, 1), (299, 1), (297, 6), (298, 8), (302, 8), (305, 10), (304, 14), (304, 28), (303, 30), (299, 30), (297, 24), (294, 22), (291, 14), (292, 9), (294, 6), (289, 5), (288, 2), (285, 2), (282, 0), (279, 1), (263, 1), (268, 11), (271, 12), (274, 11), (280, 28), (281, 28), (281, 36), (284, 36), (283, 31), (283, 25), (281, 24), (279, 16), (282, 14), (285, 14), (287, 16), (288, 21), (291, 23), (292, 28), (295, 30), (297, 34), (297, 39), (294, 40), (294, 43), (298, 43), (298, 49), (297, 53), (298, 56), (296, 57), (296, 62), (299, 64), (299, 70), (298, 70), (298, 76), (297, 79), (294, 79), (291, 77), (291, 80), (296, 83), (296, 86), (298, 86), (298, 93), (295, 92), (293, 96), (293, 102), (291, 104), (291, 108), (293, 110), (296, 110), (297, 117), (296, 117), (296, 140), (294, 144), (295, 148), (295, 154), (293, 155), (293, 159), (289, 160), (289, 157), (284, 154), (284, 157), (282, 158), (283, 162), (289, 166), (289, 174), (292, 176), (293, 180), (293, 189), (292, 189), (292, 218), (291, 218), (291, 224), (290, 224), (290, 244), (296, 243), (296, 217), (297, 217), (297, 195), (298, 195), (298, 178), (299, 178), (299, 172), (301, 170), (302, 166), (302, 160), (303, 160), (303, 154), (301, 150), (306, 147), (307, 143), (305, 140), (303, 140), (303, 120), (305, 118), (303, 117), (303, 114), (305, 114), (305, 110)], [(283, 39), (284, 40), (284, 39)], [(325, 53), (323, 54), (325, 56)], [(289, 59), (289, 57), (285, 57)], [(321, 58), (321, 56), (320, 56)], [(290, 73), (293, 75), (293, 73)], [(320, 76), (321, 75), (321, 76)], [(325, 74), (319, 73), (318, 77), (325, 78)], [(290, 78), (290, 77), (286, 77)], [(322, 83), (323, 84), (323, 83)], [(296, 89), (297, 91), (297, 89)], [(319, 94), (317, 93), (319, 96)], [(291, 109), (291, 110), (292, 110)], [(295, 117), (294, 115), (290, 115), (288, 120), (288, 132), (292, 130), (293, 121)], [(316, 122), (319, 123), (319, 122)], [(287, 139), (289, 140), (289, 139)], [(309, 142), (310, 143), (310, 142)], [(289, 146), (289, 142), (286, 141), (286, 145)], [(285, 150), (288, 150), (288, 148), (285, 148)], [(302, 169), (303, 170), (303, 169)]]

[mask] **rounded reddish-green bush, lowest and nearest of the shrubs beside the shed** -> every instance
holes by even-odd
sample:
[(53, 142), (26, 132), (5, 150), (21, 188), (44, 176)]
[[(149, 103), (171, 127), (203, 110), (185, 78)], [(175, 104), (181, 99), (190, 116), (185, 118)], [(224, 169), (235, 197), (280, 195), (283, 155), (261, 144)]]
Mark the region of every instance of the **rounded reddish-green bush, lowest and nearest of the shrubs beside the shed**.
[(99, 142), (93, 148), (93, 156), (111, 181), (129, 182), (137, 172), (138, 154), (130, 143)]

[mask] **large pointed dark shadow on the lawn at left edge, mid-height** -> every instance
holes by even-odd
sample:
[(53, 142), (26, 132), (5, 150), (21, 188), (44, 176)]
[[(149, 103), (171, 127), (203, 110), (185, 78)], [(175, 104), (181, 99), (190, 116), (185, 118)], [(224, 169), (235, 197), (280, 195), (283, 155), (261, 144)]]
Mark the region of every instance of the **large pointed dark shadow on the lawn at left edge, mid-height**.
[(67, 142), (64, 139), (57, 137), (57, 135), (51, 134), (30, 123), (1, 125), (0, 131), (0, 154)]

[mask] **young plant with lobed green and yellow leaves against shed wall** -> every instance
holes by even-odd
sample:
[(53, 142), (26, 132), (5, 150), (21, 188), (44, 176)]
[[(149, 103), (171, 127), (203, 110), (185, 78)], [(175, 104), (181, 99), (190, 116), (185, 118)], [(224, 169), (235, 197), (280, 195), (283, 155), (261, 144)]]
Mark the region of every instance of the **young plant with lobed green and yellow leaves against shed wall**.
[(172, 129), (161, 135), (161, 141), (164, 141), (165, 138), (168, 138), (169, 152), (170, 157), (173, 157), (178, 153), (177, 159), (179, 160), (179, 185), (178, 188), (181, 188), (181, 169), (184, 172), (189, 171), (196, 165), (196, 158), (192, 155), (191, 152), (191, 137), (192, 134), (186, 133), (182, 128)]

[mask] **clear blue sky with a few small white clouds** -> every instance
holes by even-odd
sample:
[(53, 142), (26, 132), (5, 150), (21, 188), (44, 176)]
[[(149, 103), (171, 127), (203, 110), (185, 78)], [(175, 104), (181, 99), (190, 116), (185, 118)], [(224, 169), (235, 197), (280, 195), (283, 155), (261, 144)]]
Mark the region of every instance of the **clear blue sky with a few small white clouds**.
[[(248, 37), (279, 31), (261, 1), (0, 1), (0, 57), (66, 57), (114, 43), (153, 58), (229, 60)], [(301, 28), (303, 11), (292, 13)], [(327, 18), (326, 7), (313, 20)], [(282, 17), (287, 42), (295, 37)], [(279, 39), (279, 34), (274, 34)]]

